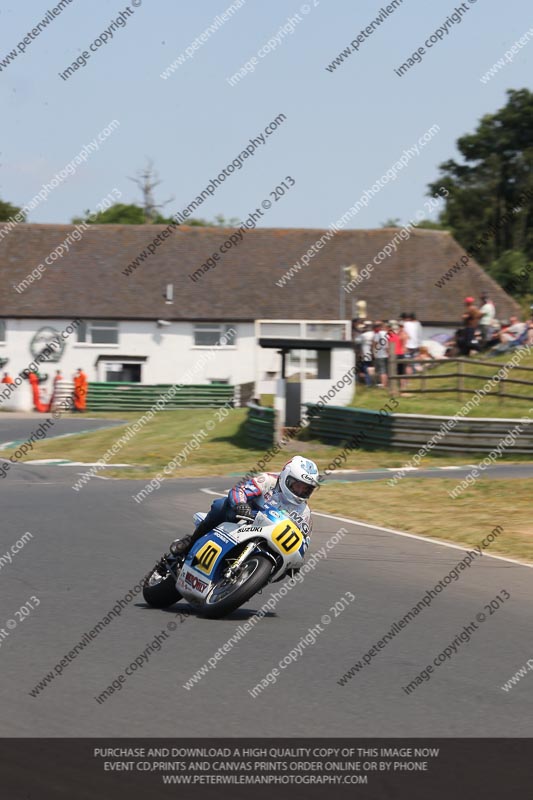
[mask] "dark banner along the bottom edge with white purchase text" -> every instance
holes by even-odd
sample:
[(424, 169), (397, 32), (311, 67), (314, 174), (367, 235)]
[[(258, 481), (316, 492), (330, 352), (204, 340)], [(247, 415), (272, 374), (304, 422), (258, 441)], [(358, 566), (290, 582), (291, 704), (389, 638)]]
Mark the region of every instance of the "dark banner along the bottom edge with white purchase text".
[(533, 796), (533, 739), (0, 739), (6, 800)]

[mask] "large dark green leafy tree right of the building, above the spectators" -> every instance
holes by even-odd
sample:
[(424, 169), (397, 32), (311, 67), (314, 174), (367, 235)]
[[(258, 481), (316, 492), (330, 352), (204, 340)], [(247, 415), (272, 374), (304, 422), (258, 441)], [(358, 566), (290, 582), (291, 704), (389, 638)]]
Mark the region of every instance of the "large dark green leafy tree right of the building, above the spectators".
[(515, 261), (502, 261), (504, 254), (533, 259), (533, 94), (509, 89), (507, 95), (503, 108), (457, 141), (462, 161), (441, 164), (441, 177), (429, 186), (431, 194), (449, 192), (442, 224), (500, 279)]

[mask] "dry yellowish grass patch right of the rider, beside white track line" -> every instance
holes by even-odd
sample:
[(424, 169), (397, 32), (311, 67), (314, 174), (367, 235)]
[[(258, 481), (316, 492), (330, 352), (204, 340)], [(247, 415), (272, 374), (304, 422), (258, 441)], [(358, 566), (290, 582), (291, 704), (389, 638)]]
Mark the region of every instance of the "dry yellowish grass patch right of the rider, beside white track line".
[(447, 478), (410, 478), (394, 487), (384, 481), (326, 483), (312, 508), (471, 547), (501, 525), (488, 552), (533, 563), (531, 480), (480, 479), (452, 500), (448, 491), (456, 484)]

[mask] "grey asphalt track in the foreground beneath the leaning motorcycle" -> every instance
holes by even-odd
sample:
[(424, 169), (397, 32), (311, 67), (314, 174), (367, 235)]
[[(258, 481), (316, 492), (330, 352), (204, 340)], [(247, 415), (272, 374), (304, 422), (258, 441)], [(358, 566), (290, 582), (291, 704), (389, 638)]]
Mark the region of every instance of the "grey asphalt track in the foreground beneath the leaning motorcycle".
[[(533, 735), (533, 677), (508, 693), (500, 689), (533, 657), (533, 569), (477, 559), (368, 666), (339, 686), (337, 679), (464, 553), (324, 515), (315, 517), (311, 551), (341, 527), (346, 536), (191, 690), (182, 684), (281, 584), (216, 621), (192, 609), (180, 621), (176, 612), (188, 610), (185, 603), (159, 611), (146, 607), (138, 595), (62, 675), (30, 696), (169, 541), (191, 530), (193, 512), (207, 509), (213, 499), (202, 490), (222, 492), (230, 485), (227, 478), (166, 481), (137, 504), (132, 495), (143, 482), (94, 479), (76, 492), (71, 486), (81, 471), (15, 465), (2, 481), (0, 554), (25, 531), (33, 539), (0, 569), (0, 628), (7, 631), (7, 620), (32, 596), (40, 605), (0, 641), (0, 736)], [(402, 686), (502, 590), (510, 600), (487, 616), (470, 643), (428, 683), (406, 695)], [(334, 618), (330, 609), (346, 592), (356, 601)], [(280, 670), (275, 685), (252, 698), (247, 690), (278, 667), (325, 613), (331, 622), (322, 625), (315, 644)], [(156, 634), (166, 632), (169, 622), (175, 629), (159, 652), (120, 691), (97, 703), (95, 696)]]

